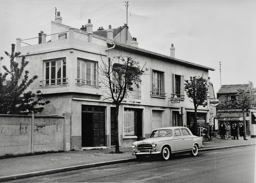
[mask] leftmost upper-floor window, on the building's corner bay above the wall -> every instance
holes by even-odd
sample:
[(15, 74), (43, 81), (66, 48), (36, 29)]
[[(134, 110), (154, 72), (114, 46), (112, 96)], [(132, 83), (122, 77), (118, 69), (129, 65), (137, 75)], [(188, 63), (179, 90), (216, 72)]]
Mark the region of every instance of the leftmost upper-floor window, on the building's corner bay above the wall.
[(66, 59), (45, 62), (45, 85), (66, 84)]

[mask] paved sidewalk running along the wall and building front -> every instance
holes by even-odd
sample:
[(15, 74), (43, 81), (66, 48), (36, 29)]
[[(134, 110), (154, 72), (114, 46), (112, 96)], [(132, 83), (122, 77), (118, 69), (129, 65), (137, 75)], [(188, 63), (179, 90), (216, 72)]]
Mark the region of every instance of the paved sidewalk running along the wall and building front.
[[(240, 138), (240, 137), (239, 137)], [(248, 140), (221, 140), (219, 137), (212, 138), (212, 141), (204, 141), (204, 150), (214, 150), (219, 148), (231, 148), (245, 145), (255, 145), (255, 138), (247, 137)], [(231, 147), (228, 147), (231, 146)], [(213, 149), (212, 149), (213, 148)], [(62, 153), (49, 153), (44, 155), (14, 157), (0, 160), (0, 181), (15, 179), (14, 175), (22, 174), (16, 178), (27, 176), (45, 175), (52, 172), (62, 172), (72, 169), (95, 167), (106, 164), (132, 161), (131, 147), (120, 147), (123, 153), (113, 154), (115, 148), (78, 150)], [(200, 153), (200, 152), (199, 152)], [(121, 160), (121, 161), (118, 161)], [(102, 163), (101, 163), (102, 162)], [(100, 164), (97, 164), (100, 163)], [(81, 166), (84, 165), (84, 166)], [(66, 169), (63, 169), (67, 167)], [(50, 170), (50, 171), (49, 171)], [(27, 173), (33, 174), (26, 175)], [(13, 175), (13, 176), (12, 176)], [(7, 178), (7, 179), (4, 179)]]

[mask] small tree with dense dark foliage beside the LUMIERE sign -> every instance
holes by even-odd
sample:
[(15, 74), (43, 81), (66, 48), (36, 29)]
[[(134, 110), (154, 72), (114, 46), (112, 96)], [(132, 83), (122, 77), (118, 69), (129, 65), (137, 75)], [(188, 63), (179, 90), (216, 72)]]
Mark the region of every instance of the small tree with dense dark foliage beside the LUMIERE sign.
[(189, 80), (185, 80), (184, 83), (185, 91), (187, 92), (188, 98), (191, 98), (195, 108), (194, 123), (192, 125), (192, 133), (197, 134), (197, 107), (198, 106), (207, 106), (208, 98), (208, 85), (207, 80), (203, 76), (194, 76), (190, 77)]

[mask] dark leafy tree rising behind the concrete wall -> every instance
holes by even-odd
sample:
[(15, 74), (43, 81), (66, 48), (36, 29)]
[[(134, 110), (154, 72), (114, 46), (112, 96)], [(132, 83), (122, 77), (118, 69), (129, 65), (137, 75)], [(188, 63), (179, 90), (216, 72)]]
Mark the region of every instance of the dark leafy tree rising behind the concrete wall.
[[(41, 96), (35, 99), (36, 94), (41, 94), (41, 91), (37, 91), (34, 94), (31, 91), (26, 91), (27, 87), (37, 79), (37, 76), (33, 76), (29, 79), (29, 71), (24, 70), (25, 66), (29, 63), (25, 61), (25, 56), (22, 56), (20, 67), (18, 62), (15, 62), (15, 58), (21, 53), (15, 52), (15, 44), (12, 44), (11, 54), (5, 52), (10, 57), (10, 69), (3, 66), (5, 73), (0, 73), (0, 114), (30, 114), (31, 112), (40, 113), (44, 110), (45, 104), (50, 103), (49, 100), (40, 102)], [(1, 60), (3, 57), (1, 57)], [(19, 83), (24, 71), (24, 77)], [(6, 85), (3, 82), (6, 77), (10, 75), (11, 81)]]

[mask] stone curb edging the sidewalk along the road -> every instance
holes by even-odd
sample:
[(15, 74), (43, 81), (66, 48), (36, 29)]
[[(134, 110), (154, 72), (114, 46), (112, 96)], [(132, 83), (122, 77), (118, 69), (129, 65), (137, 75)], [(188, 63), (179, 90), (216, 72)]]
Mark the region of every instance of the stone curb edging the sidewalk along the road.
[[(217, 147), (217, 148), (205, 148), (205, 149), (198, 149), (198, 151), (228, 149), (228, 148), (236, 148), (236, 147), (243, 147), (243, 146), (250, 146), (250, 145), (255, 145), (255, 144), (242, 144), (242, 145), (223, 146), (223, 147)], [(72, 167), (48, 169), (48, 170), (30, 172), (30, 173), (24, 173), (24, 174), (8, 175), (8, 176), (0, 177), (0, 182), (8, 181), (8, 180), (29, 178), (29, 177), (40, 176), (40, 175), (56, 174), (56, 173), (60, 173), (60, 172), (66, 172), (66, 171), (72, 171), (72, 170), (78, 170), (78, 169), (84, 169), (84, 168), (93, 168), (93, 167), (99, 167), (99, 166), (103, 166), (103, 165), (125, 163), (125, 162), (130, 162), (130, 161), (135, 161), (135, 160), (136, 160), (136, 158), (113, 160), (113, 161), (103, 161), (100, 163), (91, 163), (91, 164), (84, 164), (84, 165), (76, 165), (76, 166), (72, 166)]]

